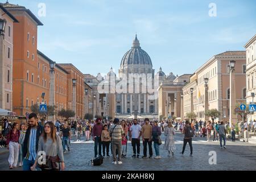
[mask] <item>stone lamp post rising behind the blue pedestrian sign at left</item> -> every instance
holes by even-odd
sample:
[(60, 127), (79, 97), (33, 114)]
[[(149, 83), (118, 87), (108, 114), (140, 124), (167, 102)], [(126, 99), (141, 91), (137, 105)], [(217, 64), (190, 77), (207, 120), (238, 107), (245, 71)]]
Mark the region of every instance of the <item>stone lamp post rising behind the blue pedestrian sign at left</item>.
[[(49, 105), (54, 106), (55, 105), (55, 62), (51, 62), (49, 64), (50, 66), (50, 90), (49, 90)], [(53, 123), (55, 123), (56, 115), (54, 114), (53, 117), (50, 117), (53, 120)]]

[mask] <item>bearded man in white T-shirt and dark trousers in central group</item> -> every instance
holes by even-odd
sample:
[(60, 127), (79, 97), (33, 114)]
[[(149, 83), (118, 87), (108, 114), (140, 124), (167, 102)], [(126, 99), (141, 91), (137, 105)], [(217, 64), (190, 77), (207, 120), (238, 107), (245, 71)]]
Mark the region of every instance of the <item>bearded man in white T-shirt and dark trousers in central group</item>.
[(133, 126), (130, 127), (130, 140), (133, 146), (133, 158), (136, 158), (136, 147), (137, 147), (137, 158), (139, 158), (139, 152), (141, 147), (141, 125), (138, 125), (138, 120), (133, 119)]

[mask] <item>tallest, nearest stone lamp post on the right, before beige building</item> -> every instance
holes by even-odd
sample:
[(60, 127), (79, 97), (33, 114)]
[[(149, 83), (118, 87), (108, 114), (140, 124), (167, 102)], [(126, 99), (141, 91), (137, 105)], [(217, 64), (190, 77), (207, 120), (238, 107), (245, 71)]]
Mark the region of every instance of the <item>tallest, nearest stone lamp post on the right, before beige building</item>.
[(236, 79), (235, 79), (235, 66), (236, 61), (230, 60), (230, 98), (229, 98), (229, 125), (232, 126), (232, 123), (236, 123), (236, 115), (234, 114), (234, 109), (236, 107)]

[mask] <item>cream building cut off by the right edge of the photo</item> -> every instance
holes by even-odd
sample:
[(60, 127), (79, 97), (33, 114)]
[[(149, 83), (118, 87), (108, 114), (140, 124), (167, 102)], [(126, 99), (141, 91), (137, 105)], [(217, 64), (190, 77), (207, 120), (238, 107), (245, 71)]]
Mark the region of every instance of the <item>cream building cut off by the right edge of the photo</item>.
[[(245, 45), (246, 48), (246, 102), (255, 102), (251, 93), (256, 93), (256, 35)], [(256, 114), (251, 119), (256, 119)]]

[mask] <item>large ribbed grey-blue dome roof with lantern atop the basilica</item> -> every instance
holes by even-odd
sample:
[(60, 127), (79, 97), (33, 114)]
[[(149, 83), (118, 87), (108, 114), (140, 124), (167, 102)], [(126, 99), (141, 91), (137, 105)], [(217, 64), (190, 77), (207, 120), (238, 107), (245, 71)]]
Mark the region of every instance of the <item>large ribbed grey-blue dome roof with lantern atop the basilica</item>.
[(133, 47), (125, 53), (121, 61), (121, 66), (127, 64), (148, 64), (152, 66), (150, 56), (140, 47), (137, 35), (133, 41)]

